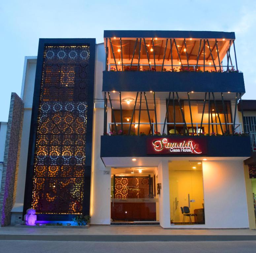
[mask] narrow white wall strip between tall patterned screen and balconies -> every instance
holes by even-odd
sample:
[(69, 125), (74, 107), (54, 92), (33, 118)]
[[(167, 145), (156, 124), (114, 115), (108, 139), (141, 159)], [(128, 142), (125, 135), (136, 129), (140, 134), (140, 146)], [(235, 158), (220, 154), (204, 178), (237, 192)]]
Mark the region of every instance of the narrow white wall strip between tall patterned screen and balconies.
[[(102, 71), (105, 70), (104, 44), (96, 45), (96, 71), (94, 87), (93, 142), (91, 167), (91, 224), (110, 224), (111, 168), (105, 167), (100, 157), (100, 138), (103, 134), (104, 102)], [(99, 100), (101, 99), (101, 100)], [(108, 117), (111, 117), (110, 112)]]

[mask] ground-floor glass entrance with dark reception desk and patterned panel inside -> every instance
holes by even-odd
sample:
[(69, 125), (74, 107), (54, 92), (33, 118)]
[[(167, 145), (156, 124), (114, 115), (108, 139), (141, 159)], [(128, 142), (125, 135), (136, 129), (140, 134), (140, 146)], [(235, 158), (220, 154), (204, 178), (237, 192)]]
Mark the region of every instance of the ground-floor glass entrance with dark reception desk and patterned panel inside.
[(111, 169), (111, 221), (157, 221), (156, 167)]

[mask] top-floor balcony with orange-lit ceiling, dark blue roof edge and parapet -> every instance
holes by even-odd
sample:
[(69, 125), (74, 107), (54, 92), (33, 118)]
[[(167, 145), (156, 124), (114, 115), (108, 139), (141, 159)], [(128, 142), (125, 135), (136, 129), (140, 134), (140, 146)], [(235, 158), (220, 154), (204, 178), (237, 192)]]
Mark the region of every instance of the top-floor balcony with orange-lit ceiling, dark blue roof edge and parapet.
[(244, 93), (234, 41), (227, 32), (104, 31), (103, 91)]

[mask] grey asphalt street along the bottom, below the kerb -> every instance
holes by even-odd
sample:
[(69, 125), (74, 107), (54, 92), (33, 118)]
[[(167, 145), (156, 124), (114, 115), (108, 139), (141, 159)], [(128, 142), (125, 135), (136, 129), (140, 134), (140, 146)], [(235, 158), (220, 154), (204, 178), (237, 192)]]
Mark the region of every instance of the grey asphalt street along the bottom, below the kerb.
[(0, 253), (255, 253), (256, 241), (0, 241)]

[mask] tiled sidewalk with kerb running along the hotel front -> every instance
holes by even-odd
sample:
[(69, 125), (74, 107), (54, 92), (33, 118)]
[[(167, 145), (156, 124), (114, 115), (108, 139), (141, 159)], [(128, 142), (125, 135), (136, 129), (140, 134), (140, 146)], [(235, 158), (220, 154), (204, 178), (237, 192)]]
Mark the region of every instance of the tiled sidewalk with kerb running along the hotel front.
[(0, 240), (48, 241), (230, 241), (255, 240), (250, 229), (163, 229), (160, 226), (102, 226), (88, 229), (0, 228)]

